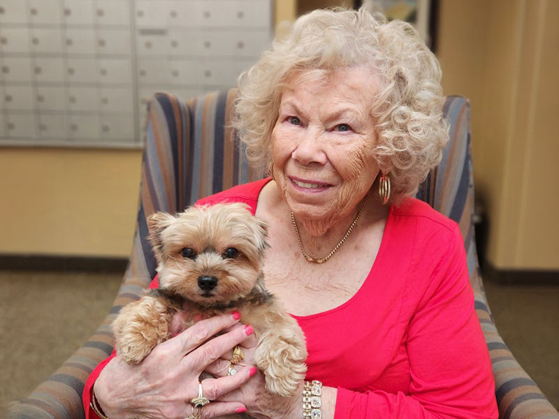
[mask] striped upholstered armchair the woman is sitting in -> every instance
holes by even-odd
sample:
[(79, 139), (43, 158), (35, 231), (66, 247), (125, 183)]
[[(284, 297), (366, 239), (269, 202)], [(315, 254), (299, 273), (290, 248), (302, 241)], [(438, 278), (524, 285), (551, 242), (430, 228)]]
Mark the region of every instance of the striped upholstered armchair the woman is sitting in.
[[(198, 198), (262, 177), (251, 170), (230, 128), (236, 90), (187, 103), (156, 94), (149, 105), (136, 233), (129, 265), (110, 314), (94, 335), (26, 399), (12, 402), (8, 418), (83, 418), (81, 395), (94, 367), (112, 351), (110, 323), (124, 305), (138, 299), (155, 274), (146, 240), (146, 217), (155, 211), (180, 212)], [(537, 385), (518, 365), (498, 335), (479, 272), (472, 225), (474, 185), (470, 148), (470, 105), (448, 97), (444, 115), (451, 141), (440, 166), (421, 186), (418, 197), (460, 224), (481, 328), (493, 361), (500, 418), (559, 419)]]

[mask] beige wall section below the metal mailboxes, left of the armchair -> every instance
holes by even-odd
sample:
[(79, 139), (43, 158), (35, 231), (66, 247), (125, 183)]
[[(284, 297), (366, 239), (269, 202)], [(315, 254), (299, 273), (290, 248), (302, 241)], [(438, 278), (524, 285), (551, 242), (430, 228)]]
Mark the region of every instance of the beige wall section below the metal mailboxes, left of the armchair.
[(127, 257), (141, 152), (0, 149), (0, 253)]

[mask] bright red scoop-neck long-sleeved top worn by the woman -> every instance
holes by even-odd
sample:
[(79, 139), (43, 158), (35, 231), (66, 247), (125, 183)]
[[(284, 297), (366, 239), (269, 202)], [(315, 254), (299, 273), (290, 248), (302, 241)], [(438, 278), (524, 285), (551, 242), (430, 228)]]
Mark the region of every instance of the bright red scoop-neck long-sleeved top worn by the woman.
[[(244, 202), (254, 213), (268, 181), (198, 204)], [(454, 221), (420, 200), (391, 207), (377, 258), (353, 297), (293, 317), (307, 339), (307, 379), (337, 388), (335, 419), (498, 417), (463, 238)], [(106, 362), (85, 386), (86, 412)]]

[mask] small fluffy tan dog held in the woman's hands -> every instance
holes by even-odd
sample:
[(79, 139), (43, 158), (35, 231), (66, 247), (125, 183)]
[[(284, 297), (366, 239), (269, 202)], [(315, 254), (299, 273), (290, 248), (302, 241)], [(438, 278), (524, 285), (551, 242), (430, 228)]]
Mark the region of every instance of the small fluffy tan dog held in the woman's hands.
[(256, 366), (266, 388), (283, 397), (305, 378), (307, 348), (302, 330), (266, 291), (261, 263), (268, 226), (245, 204), (189, 207), (147, 220), (157, 258), (159, 288), (126, 305), (113, 323), (117, 353), (138, 363), (173, 334), (176, 311), (187, 321), (236, 309), (258, 338)]

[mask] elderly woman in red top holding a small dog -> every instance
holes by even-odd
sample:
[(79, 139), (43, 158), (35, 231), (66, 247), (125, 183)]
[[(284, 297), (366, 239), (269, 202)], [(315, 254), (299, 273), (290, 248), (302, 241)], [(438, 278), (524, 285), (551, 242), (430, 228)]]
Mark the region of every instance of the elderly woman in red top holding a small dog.
[[(140, 365), (103, 362), (87, 415), (496, 418), (460, 231), (411, 198), (447, 142), (440, 78), (409, 24), (365, 10), (300, 17), (240, 80), (238, 132), (270, 177), (200, 203), (247, 203), (267, 221), (266, 284), (305, 333), (312, 383), (267, 392), (233, 311)], [(227, 376), (238, 344), (246, 365)], [(209, 403), (191, 406), (197, 396)]]

